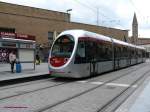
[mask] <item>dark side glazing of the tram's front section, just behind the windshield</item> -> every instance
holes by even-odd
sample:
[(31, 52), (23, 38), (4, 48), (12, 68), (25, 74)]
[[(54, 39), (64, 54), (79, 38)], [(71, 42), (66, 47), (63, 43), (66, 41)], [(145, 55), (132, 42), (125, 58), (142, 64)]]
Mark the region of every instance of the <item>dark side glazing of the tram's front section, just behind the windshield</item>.
[(112, 45), (93, 41), (79, 42), (75, 63), (112, 60)]

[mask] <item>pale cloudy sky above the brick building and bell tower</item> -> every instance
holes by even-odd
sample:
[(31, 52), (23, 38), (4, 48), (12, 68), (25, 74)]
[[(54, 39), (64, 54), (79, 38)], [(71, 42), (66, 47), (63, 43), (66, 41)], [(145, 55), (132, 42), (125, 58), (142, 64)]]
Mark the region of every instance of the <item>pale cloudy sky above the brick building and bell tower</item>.
[(139, 37), (150, 38), (150, 0), (0, 0), (7, 3), (67, 12), (72, 22), (129, 30), (136, 13)]

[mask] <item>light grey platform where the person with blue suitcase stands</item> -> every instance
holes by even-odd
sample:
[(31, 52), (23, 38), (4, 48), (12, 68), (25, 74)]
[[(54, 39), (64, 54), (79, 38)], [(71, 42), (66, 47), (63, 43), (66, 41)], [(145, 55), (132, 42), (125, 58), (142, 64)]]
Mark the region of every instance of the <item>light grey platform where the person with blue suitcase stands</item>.
[[(24, 65), (24, 68), (22, 69), (21, 73), (11, 73), (10, 71), (10, 64), (7, 65), (1, 65), (0, 66), (0, 83), (1, 82), (8, 82), (10, 80), (17, 80), (22, 78), (29, 78), (29, 77), (37, 77), (37, 76), (44, 76), (48, 75), (48, 64), (47, 63), (41, 63), (40, 65), (35, 65), (34, 67), (30, 67), (31, 64)], [(15, 71), (15, 70), (14, 70)]]

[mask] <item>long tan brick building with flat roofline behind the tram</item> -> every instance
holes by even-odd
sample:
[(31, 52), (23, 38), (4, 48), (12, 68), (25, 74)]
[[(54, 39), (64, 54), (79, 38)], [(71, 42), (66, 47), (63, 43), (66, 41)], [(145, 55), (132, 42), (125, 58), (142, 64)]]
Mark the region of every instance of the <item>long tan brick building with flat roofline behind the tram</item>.
[(0, 2), (0, 31), (34, 35), (41, 54), (48, 53), (54, 37), (69, 29), (88, 30), (123, 41), (128, 38), (128, 30), (70, 22), (68, 13)]

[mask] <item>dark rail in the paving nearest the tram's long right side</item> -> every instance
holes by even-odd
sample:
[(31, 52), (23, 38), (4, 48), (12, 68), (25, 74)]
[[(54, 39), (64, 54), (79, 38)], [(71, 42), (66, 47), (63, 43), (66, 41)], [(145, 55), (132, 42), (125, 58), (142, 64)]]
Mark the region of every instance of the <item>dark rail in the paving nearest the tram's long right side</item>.
[[(142, 68), (143, 68), (143, 67), (142, 67)], [(142, 68), (141, 68), (141, 69), (142, 69)], [(137, 69), (139, 69), (139, 68), (137, 68)], [(49, 110), (49, 109), (51, 109), (51, 108), (53, 108), (53, 107), (56, 107), (56, 106), (58, 106), (58, 105), (61, 105), (61, 104), (65, 103), (65, 102), (67, 102), (67, 101), (70, 101), (70, 100), (72, 100), (72, 99), (74, 99), (74, 98), (77, 98), (77, 97), (79, 97), (79, 96), (81, 96), (81, 95), (84, 95), (84, 94), (86, 94), (86, 93), (88, 93), (88, 92), (91, 92), (91, 91), (93, 91), (93, 90), (95, 90), (95, 89), (98, 89), (98, 88), (100, 88), (100, 87), (102, 87), (102, 86), (105, 86), (107, 83), (111, 83), (111, 82), (113, 82), (113, 81), (115, 81), (115, 80), (118, 80), (118, 79), (120, 79), (120, 78), (122, 78), (122, 77), (125, 77), (125, 76), (127, 76), (127, 75), (130, 75), (130, 73), (136, 71), (137, 69), (132, 70), (132, 71), (129, 71), (129, 72), (127, 72), (127, 73), (124, 73), (124, 74), (122, 74), (121, 76), (117, 76), (117, 77), (115, 77), (115, 78), (113, 78), (113, 79), (111, 79), (111, 80), (108, 80), (108, 81), (106, 81), (106, 82), (103, 82), (101, 85), (98, 85), (98, 86), (95, 86), (95, 87), (93, 87), (93, 88), (91, 88), (91, 89), (85, 90), (84, 92), (78, 93), (78, 94), (76, 94), (76, 95), (74, 95), (74, 96), (71, 96), (71, 97), (69, 97), (69, 98), (67, 98), (67, 99), (64, 99), (64, 100), (59, 101), (59, 102), (57, 102), (57, 103), (54, 103), (54, 104), (52, 104), (52, 105), (47, 105), (47, 106), (45, 106), (45, 107), (43, 107), (43, 108), (37, 109), (37, 110), (35, 110), (34, 112), (44, 112), (44, 111)]]

